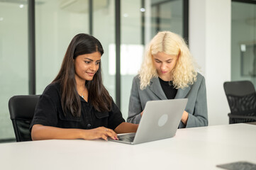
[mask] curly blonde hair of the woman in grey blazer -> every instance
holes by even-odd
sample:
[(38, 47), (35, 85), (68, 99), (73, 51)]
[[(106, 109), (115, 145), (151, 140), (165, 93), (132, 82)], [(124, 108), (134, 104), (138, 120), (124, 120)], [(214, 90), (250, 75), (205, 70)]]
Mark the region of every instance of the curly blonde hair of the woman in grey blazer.
[(179, 35), (170, 31), (157, 33), (145, 50), (139, 77), (140, 89), (145, 89), (150, 84), (150, 79), (158, 77), (157, 69), (153, 64), (153, 55), (165, 52), (167, 55), (177, 55), (177, 63), (172, 70), (172, 82), (176, 89), (184, 88), (196, 81), (197, 72), (195, 62), (186, 42)]

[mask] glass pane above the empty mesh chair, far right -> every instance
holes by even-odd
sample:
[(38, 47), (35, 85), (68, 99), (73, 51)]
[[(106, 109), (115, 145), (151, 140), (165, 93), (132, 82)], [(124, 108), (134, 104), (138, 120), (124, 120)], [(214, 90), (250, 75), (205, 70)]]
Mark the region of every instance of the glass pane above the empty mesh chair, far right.
[(232, 2), (231, 80), (256, 84), (256, 4)]

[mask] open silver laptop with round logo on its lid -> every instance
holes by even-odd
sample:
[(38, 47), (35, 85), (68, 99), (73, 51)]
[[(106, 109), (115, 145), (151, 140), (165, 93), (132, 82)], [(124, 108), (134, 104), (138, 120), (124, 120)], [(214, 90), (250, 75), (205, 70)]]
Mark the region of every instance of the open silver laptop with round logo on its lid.
[(118, 135), (119, 140), (108, 140), (139, 144), (174, 137), (186, 105), (187, 98), (148, 101), (136, 133)]

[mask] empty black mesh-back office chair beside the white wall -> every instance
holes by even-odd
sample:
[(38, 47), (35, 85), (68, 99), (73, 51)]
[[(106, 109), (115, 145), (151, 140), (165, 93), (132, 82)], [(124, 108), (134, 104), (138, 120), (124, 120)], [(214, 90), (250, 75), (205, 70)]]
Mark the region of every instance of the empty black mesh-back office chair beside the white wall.
[(230, 113), (229, 123), (256, 121), (256, 93), (251, 81), (228, 81), (224, 84)]

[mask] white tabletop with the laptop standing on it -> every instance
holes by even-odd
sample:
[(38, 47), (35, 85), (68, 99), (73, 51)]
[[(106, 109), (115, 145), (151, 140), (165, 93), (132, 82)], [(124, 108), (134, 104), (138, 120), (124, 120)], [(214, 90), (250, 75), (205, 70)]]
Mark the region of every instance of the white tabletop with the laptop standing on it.
[[(150, 132), (148, 133), (150, 135)], [(256, 164), (256, 125), (177, 130), (175, 137), (139, 145), (103, 140), (45, 140), (0, 145), (0, 169), (219, 169)]]

